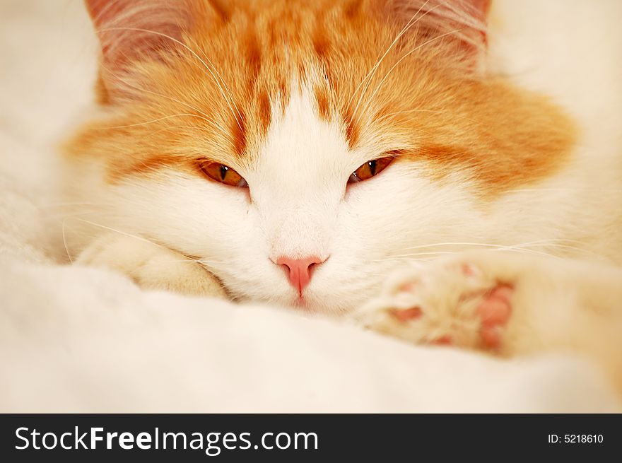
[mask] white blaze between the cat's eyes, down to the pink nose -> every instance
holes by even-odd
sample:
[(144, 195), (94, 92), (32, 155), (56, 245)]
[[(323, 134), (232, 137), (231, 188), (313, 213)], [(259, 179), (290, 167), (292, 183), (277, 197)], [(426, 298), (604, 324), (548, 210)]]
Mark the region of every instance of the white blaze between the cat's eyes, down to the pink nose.
[(285, 110), (273, 110), (272, 120), (247, 179), (270, 257), (325, 259), (356, 157), (339, 123), (319, 117), (306, 86), (293, 88)]

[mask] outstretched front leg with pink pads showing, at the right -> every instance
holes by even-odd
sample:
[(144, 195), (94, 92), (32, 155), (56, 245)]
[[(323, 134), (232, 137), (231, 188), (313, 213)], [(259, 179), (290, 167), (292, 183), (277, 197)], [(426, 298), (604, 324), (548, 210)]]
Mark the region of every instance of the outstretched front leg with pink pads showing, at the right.
[(620, 368), (621, 299), (622, 271), (612, 266), (463, 252), (398, 271), (353, 317), (416, 344), (500, 356), (582, 351)]

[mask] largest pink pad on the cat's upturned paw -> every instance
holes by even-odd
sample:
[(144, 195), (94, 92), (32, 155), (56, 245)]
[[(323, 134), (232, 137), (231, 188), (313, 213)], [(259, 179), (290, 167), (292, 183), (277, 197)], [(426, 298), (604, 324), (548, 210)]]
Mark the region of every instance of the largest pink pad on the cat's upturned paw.
[(501, 284), (484, 296), (483, 302), (477, 307), (481, 317), (481, 339), (486, 346), (497, 348), (501, 344), (501, 329), (512, 315), (510, 298), (514, 288)]

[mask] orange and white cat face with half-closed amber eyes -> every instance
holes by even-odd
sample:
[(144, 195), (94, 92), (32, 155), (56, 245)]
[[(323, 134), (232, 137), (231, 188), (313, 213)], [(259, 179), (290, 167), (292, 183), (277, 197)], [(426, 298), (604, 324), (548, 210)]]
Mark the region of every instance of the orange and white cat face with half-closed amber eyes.
[(69, 155), (100, 166), (110, 226), (238, 300), (351, 310), (426, 245), (493, 240), (490, 205), (573, 143), (483, 72), (488, 2), (87, 4), (105, 116)]

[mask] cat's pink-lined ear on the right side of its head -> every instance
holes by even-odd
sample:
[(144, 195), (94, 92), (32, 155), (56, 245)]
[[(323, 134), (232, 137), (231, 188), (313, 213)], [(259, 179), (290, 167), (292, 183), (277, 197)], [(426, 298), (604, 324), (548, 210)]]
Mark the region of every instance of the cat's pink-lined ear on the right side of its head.
[[(486, 52), (491, 0), (378, 0), (385, 13), (422, 40), (439, 40), (457, 59), (477, 66)], [(442, 36), (442, 37), (441, 37)]]

